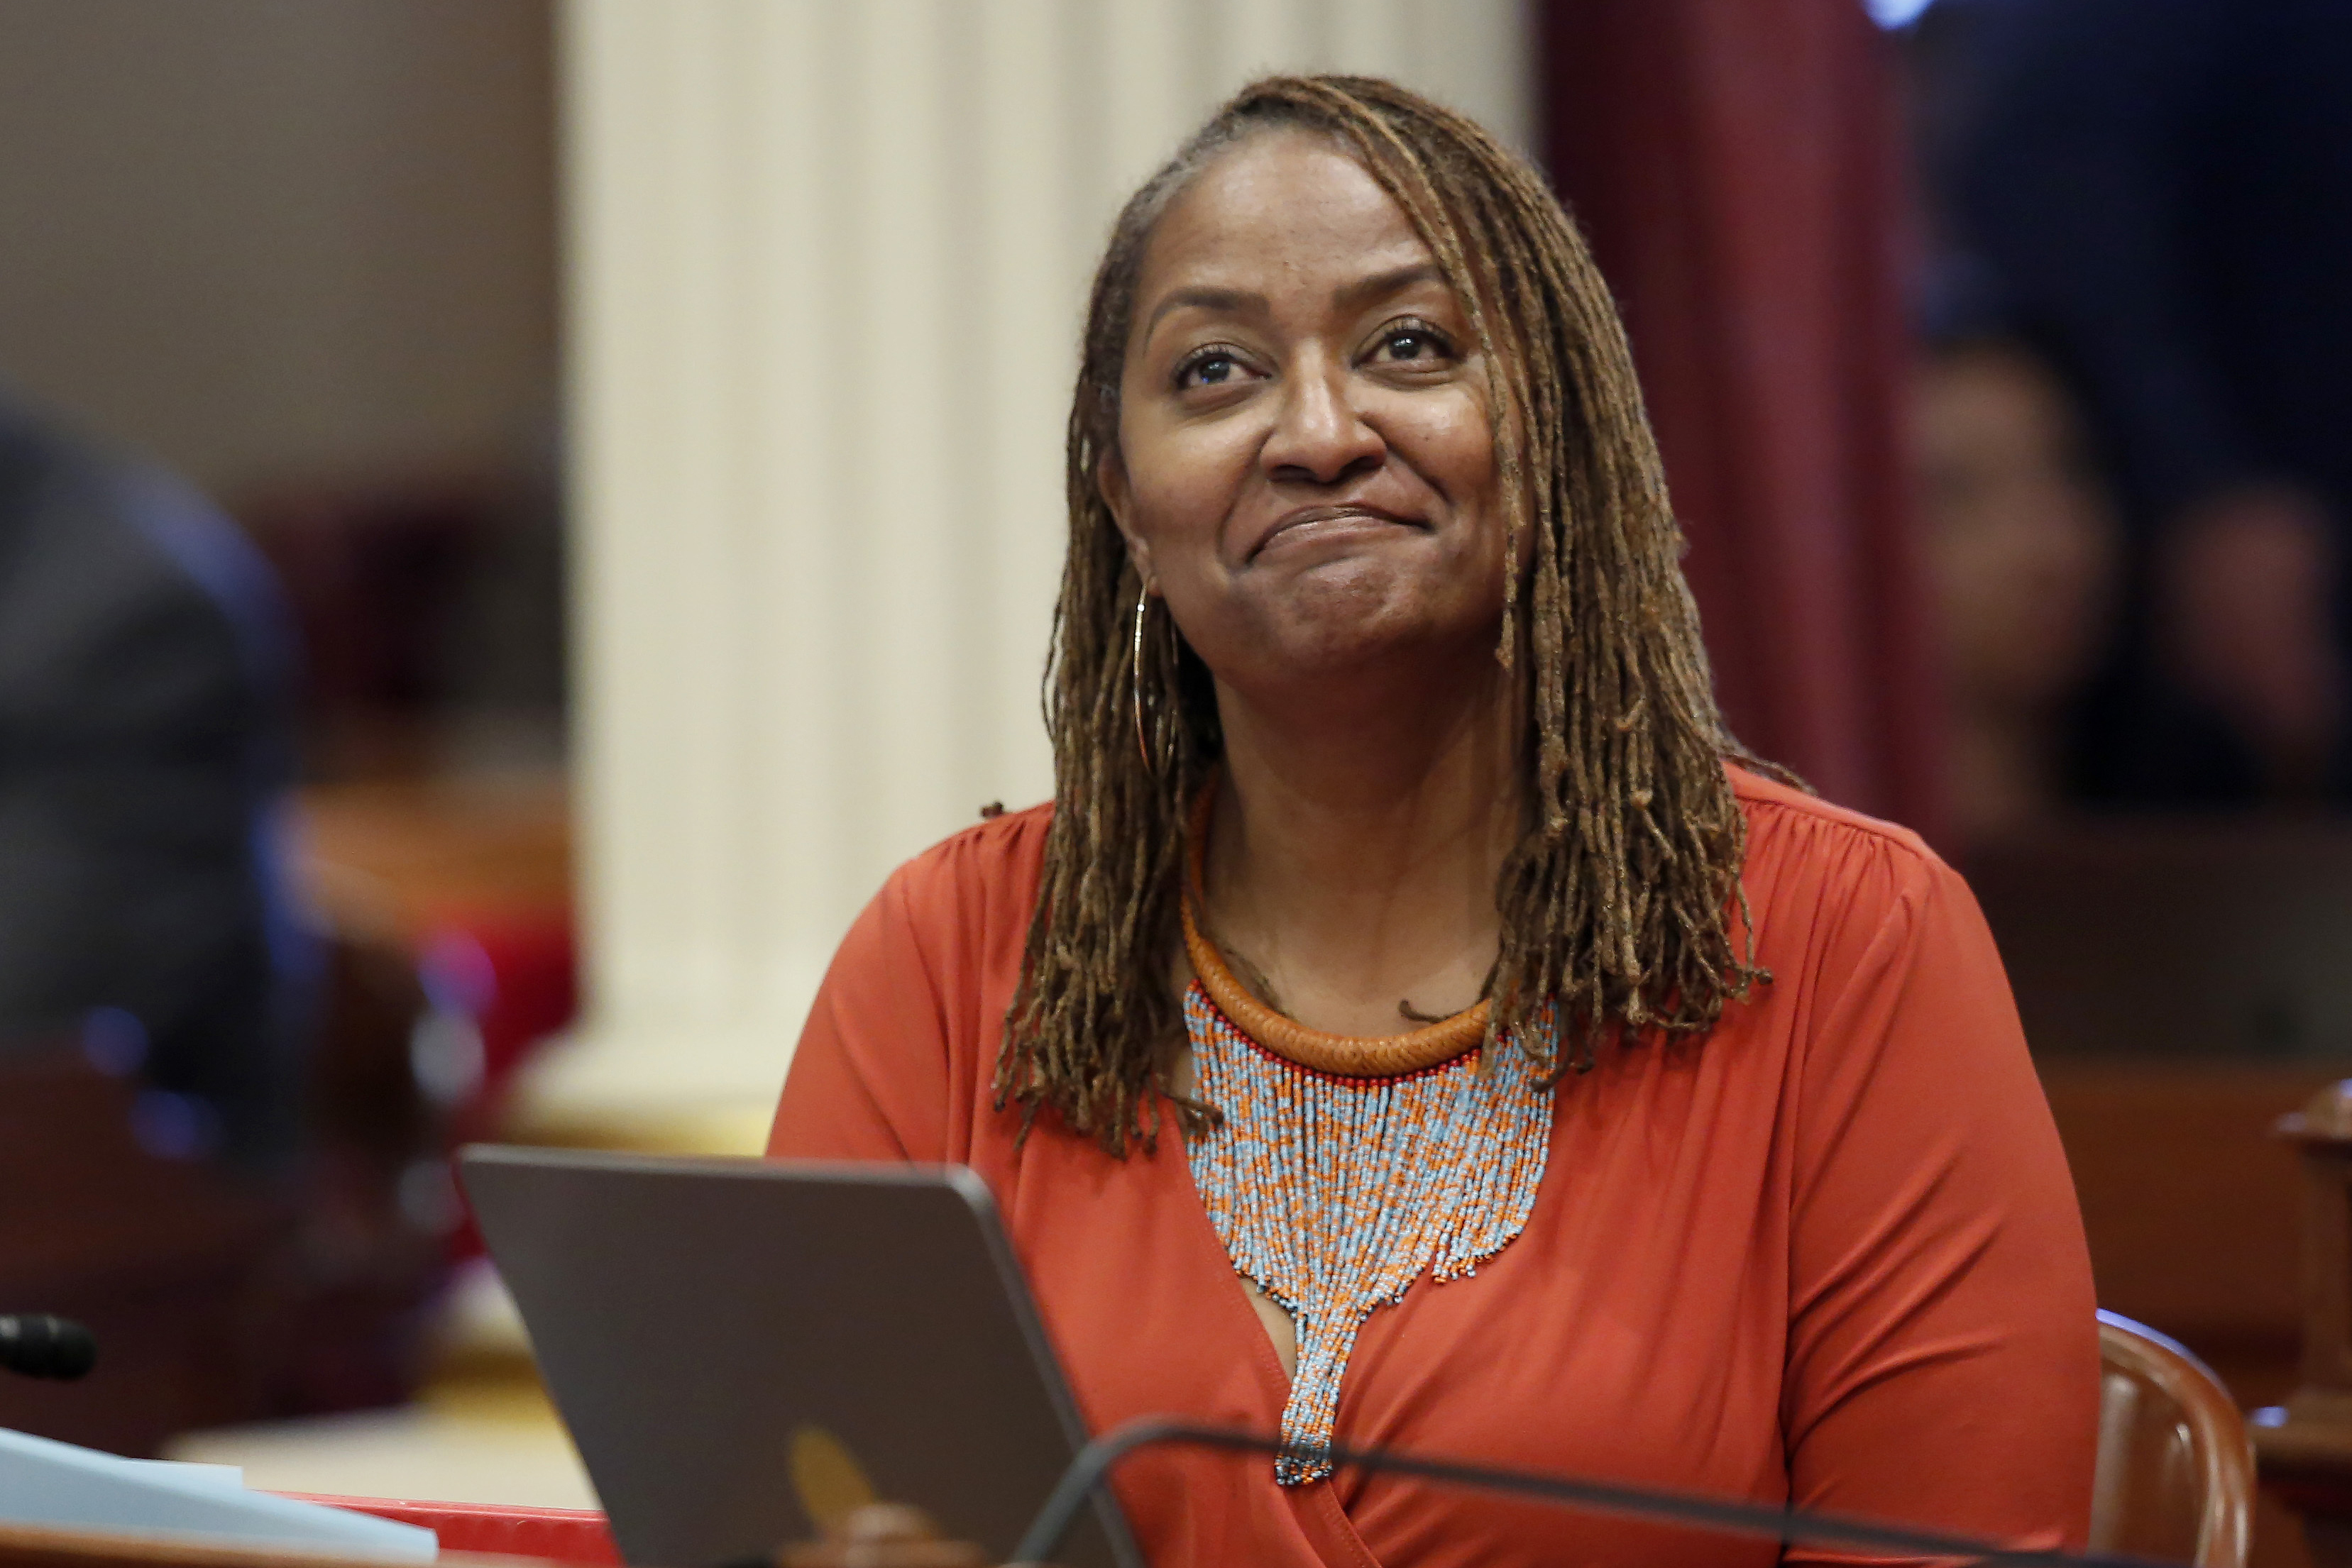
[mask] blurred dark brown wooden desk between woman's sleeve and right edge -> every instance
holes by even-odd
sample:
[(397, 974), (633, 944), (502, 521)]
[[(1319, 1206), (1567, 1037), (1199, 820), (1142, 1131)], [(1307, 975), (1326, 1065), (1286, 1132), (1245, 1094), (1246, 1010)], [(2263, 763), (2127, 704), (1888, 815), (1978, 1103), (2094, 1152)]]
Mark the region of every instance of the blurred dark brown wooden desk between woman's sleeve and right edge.
[(2352, 823), (2122, 816), (1971, 849), (2103, 1307), (2241, 1403), (2296, 1378), (2300, 1175), (2272, 1124), (2352, 1070)]

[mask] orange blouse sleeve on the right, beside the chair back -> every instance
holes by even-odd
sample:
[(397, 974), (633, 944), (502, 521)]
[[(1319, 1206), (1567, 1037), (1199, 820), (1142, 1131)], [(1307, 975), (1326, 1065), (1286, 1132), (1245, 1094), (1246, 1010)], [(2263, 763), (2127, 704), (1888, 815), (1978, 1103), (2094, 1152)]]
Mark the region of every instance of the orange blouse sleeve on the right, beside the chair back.
[(1875, 844), (1806, 976), (1790, 1502), (2079, 1547), (2098, 1328), (2074, 1185), (1992, 933), (1905, 839)]

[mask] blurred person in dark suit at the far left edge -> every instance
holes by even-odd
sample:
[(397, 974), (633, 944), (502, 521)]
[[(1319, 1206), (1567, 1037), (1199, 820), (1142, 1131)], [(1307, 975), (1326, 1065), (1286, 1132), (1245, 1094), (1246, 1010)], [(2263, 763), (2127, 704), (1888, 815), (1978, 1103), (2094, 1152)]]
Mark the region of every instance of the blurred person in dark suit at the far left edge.
[(0, 1053), (80, 1034), (158, 1154), (292, 1154), (289, 682), (242, 534), (0, 388)]

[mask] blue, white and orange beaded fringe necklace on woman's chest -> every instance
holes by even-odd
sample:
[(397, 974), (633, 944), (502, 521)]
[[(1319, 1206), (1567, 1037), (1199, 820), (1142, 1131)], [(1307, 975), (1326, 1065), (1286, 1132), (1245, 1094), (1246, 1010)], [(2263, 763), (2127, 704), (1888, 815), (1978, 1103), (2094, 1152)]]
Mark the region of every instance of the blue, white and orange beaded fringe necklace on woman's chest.
[[(1225, 994), (1247, 990), (1192, 917), (1204, 809), (1195, 811), (1183, 900), (1185, 947), (1202, 978), (1185, 987), (1183, 1018), (1197, 1093), (1223, 1117), (1188, 1143), (1185, 1161), (1232, 1269), (1298, 1328), (1282, 1436), (1327, 1448), (1364, 1319), (1402, 1300), (1423, 1274), (1439, 1284), (1475, 1274), (1526, 1227), (1550, 1154), (1555, 1095), (1508, 1039), (1482, 1053), (1472, 1034), (1470, 1048), (1446, 1060), (1343, 1074), (1270, 1048), (1284, 1044), (1282, 1032), (1268, 1030), (1272, 1039), (1261, 1044), (1235, 1027), (1207, 980), (1214, 976)], [(1263, 1009), (1256, 997), (1251, 1004)], [(1477, 1011), (1484, 1025), (1484, 1004)], [(1329, 1474), (1327, 1460), (1275, 1460), (1282, 1486)]]

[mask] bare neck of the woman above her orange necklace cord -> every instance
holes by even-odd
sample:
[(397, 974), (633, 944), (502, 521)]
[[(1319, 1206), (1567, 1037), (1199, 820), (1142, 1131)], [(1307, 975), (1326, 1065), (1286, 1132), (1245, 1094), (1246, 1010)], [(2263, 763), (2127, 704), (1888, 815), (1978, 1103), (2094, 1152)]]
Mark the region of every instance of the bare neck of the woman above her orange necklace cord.
[[(1510, 677), (1218, 689), (1207, 929), (1265, 1001), (1336, 1034), (1399, 1034), (1477, 1001), (1496, 877), (1524, 825)], [(1411, 1011), (1404, 1011), (1411, 1009)]]

